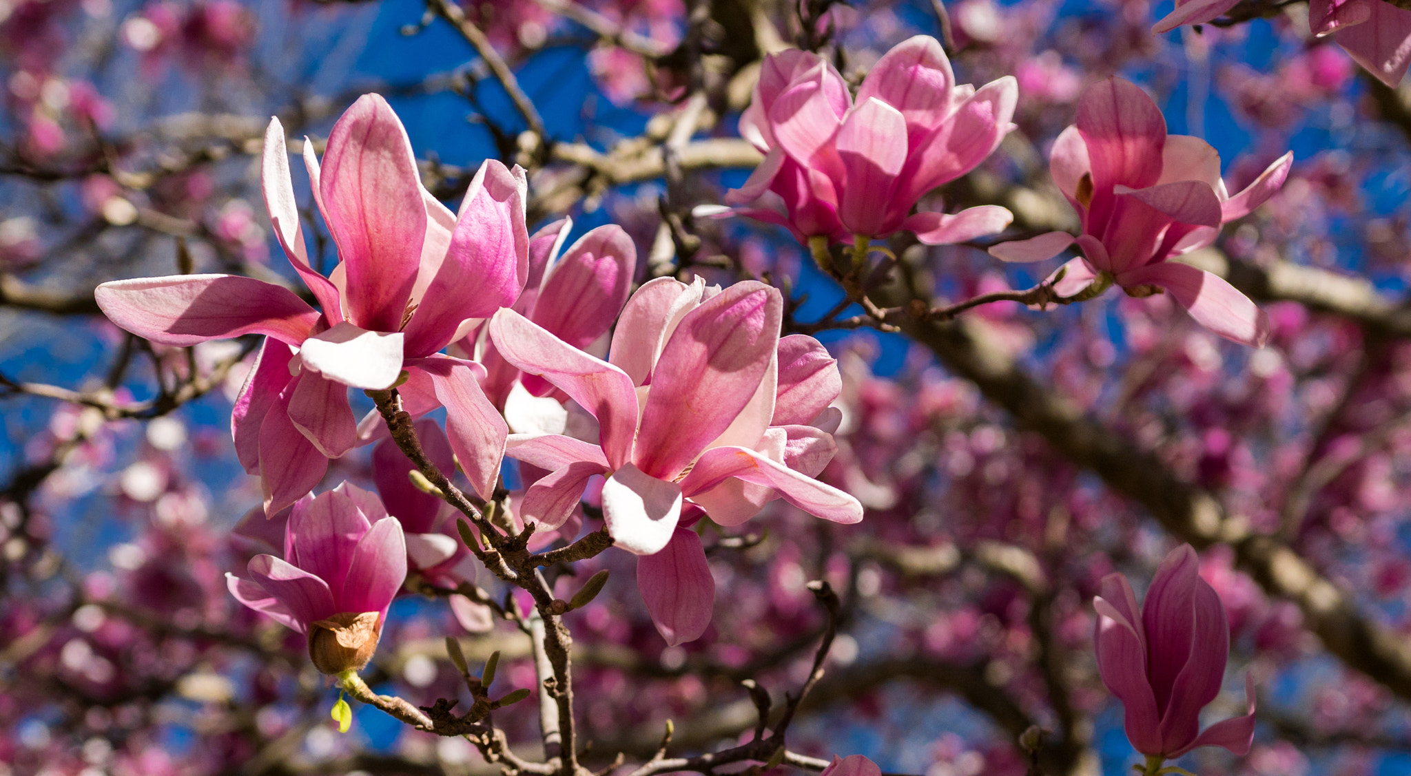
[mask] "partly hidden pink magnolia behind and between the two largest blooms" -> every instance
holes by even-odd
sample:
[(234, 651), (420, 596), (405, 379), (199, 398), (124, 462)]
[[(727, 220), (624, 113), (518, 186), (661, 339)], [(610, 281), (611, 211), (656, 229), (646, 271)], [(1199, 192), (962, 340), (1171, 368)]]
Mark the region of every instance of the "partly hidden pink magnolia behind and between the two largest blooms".
[[(636, 272), (636, 245), (617, 224), (600, 226), (563, 248), (570, 219), (560, 219), (529, 238), (529, 281), (509, 308), (538, 323), (560, 340), (590, 353), (607, 351), (607, 333), (617, 320)], [(485, 395), (504, 409), (516, 384), (533, 396), (546, 396), (553, 385), (533, 375), (523, 375), (505, 361), (495, 343), (476, 334), (478, 343), (463, 340), (467, 353), (477, 353), (488, 375), (481, 381)]]

